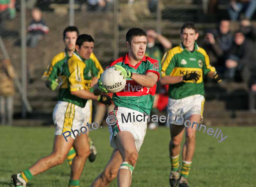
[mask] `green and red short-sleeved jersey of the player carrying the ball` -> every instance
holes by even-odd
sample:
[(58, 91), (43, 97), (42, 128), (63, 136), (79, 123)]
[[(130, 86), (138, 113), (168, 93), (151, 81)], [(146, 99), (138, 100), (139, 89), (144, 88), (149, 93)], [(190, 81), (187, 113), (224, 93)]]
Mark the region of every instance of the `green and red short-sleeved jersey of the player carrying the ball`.
[[(158, 80), (160, 79), (161, 65), (157, 60), (148, 56), (144, 56), (138, 64), (133, 66), (129, 63), (127, 53), (126, 56), (113, 61), (107, 68), (116, 64), (127, 68), (132, 73), (146, 75), (148, 72), (153, 72), (157, 74)], [(147, 88), (136, 83), (135, 80), (127, 78), (124, 89), (114, 93), (112, 100), (116, 107), (130, 108), (148, 115), (153, 106), (156, 88), (157, 84), (152, 88)]]

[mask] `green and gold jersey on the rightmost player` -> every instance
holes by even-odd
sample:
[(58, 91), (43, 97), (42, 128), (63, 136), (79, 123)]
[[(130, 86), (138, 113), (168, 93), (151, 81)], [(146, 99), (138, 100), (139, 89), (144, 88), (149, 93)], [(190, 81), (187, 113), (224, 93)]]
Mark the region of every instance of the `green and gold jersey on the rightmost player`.
[(200, 75), (199, 80), (182, 81), (169, 85), (169, 97), (181, 99), (191, 95), (204, 95), (203, 76), (215, 68), (210, 65), (209, 57), (203, 48), (195, 43), (195, 50), (188, 51), (182, 43), (165, 53), (162, 59), (162, 76), (183, 76), (187, 73), (196, 72)]

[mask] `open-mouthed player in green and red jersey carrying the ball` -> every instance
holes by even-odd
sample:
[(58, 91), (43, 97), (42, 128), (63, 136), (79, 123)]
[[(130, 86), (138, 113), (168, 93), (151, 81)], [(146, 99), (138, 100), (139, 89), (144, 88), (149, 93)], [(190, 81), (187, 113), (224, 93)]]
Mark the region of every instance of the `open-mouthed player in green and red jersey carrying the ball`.
[[(140, 28), (132, 28), (126, 34), (128, 53), (107, 68), (115, 67), (122, 71), (127, 79), (125, 88), (113, 95), (115, 105), (110, 115), (117, 118), (114, 126), (109, 126), (110, 145), (114, 148), (105, 170), (94, 180), (91, 187), (106, 187), (117, 177), (118, 187), (129, 187), (132, 172), (136, 165), (138, 152), (146, 135), (147, 120), (122, 122), (121, 114), (144, 116), (150, 114), (156, 83), (160, 79), (161, 66), (158, 61), (144, 56), (147, 47), (146, 32)], [(131, 87), (131, 88), (130, 88)], [(132, 89), (134, 88), (134, 89)], [(94, 94), (107, 92), (101, 80), (94, 85)], [(144, 114), (143, 114), (144, 113)]]

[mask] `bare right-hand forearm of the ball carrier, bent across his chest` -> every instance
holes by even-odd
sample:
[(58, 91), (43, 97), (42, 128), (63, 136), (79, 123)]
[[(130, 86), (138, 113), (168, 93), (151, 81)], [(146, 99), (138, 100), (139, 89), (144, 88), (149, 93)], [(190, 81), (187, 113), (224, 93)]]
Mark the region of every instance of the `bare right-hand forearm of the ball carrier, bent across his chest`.
[(148, 72), (146, 75), (132, 73), (131, 79), (142, 86), (152, 88), (157, 83), (158, 76), (153, 72)]

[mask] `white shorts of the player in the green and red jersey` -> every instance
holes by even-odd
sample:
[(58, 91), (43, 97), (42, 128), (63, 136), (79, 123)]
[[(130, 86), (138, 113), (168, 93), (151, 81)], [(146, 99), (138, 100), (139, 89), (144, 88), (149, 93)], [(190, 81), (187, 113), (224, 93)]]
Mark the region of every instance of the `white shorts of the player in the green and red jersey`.
[[(142, 143), (144, 141), (144, 137), (146, 135), (147, 116), (143, 117), (143, 113), (125, 107), (115, 107), (115, 109), (116, 110), (109, 112), (109, 116), (113, 115), (117, 118), (117, 123), (115, 125), (108, 125), (110, 133), (109, 140), (111, 147), (117, 148), (114, 137), (118, 132), (128, 131), (131, 132), (131, 134), (133, 135), (135, 139), (136, 149), (139, 152), (140, 147), (142, 146)], [(123, 118), (123, 120), (121, 114), (123, 114), (123, 116), (125, 117)], [(129, 114), (131, 114), (131, 120), (127, 119)], [(135, 120), (133, 120), (133, 115), (135, 116)], [(138, 120), (142, 119), (141, 122), (136, 121), (137, 115), (142, 116), (141, 118), (138, 118)], [(128, 120), (128, 122), (125, 122), (125, 120)]]

